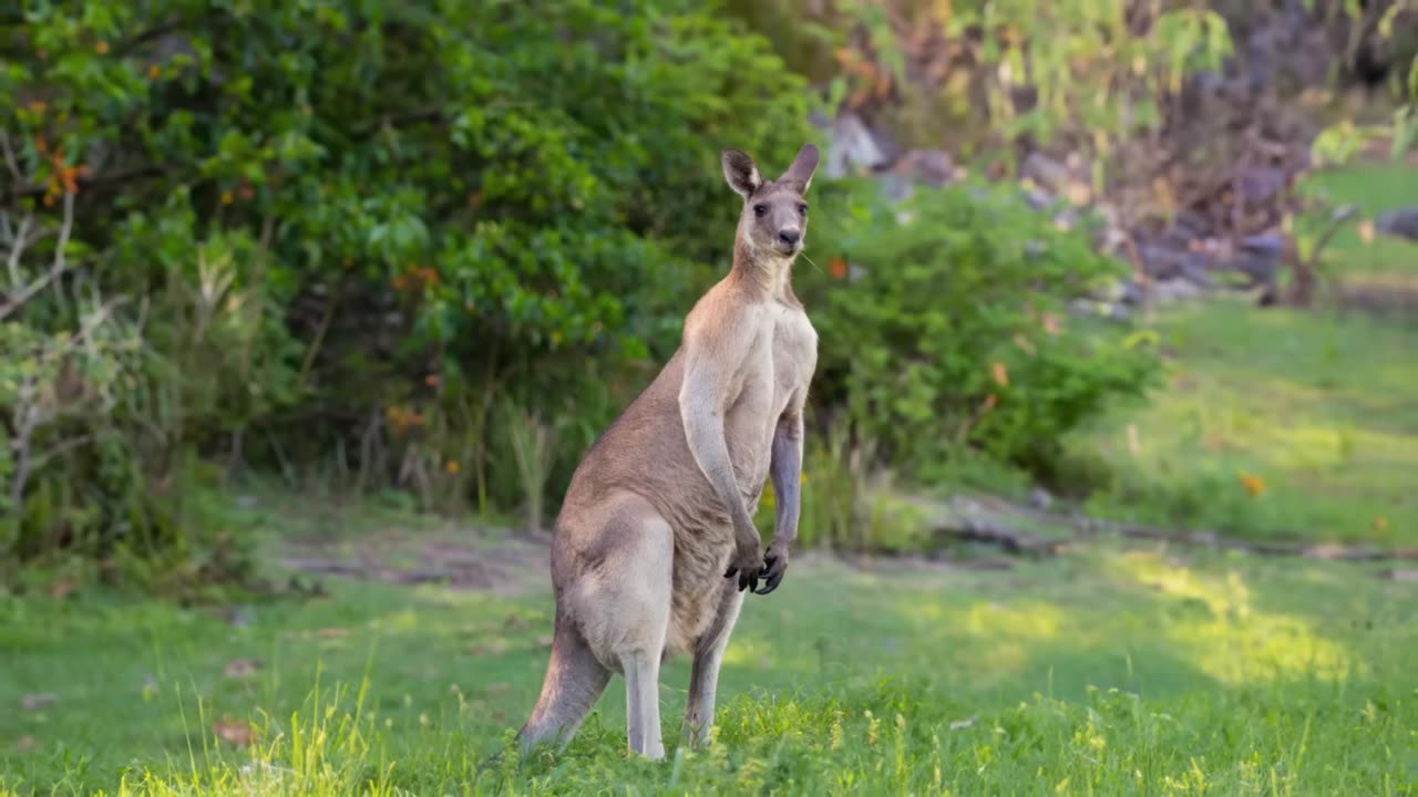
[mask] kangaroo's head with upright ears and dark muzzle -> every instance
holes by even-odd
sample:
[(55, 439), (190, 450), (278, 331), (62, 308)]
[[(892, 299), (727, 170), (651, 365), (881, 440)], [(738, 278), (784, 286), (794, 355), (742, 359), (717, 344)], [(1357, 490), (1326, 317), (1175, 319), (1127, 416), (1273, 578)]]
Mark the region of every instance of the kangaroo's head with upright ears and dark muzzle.
[(764, 182), (753, 159), (726, 149), (720, 157), (723, 179), (743, 197), (739, 238), (752, 257), (791, 260), (807, 238), (807, 189), (817, 170), (817, 147), (803, 145), (781, 177)]

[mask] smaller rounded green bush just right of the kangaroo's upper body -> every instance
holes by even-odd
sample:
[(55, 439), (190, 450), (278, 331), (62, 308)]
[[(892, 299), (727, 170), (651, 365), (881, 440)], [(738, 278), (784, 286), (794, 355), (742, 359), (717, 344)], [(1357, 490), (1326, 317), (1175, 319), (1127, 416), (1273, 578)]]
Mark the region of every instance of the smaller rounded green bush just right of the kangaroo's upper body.
[(844, 407), (883, 459), (919, 475), (968, 447), (1048, 475), (1064, 434), (1160, 373), (1146, 338), (1068, 309), (1126, 265), (1008, 187), (923, 190), (895, 208), (845, 197), (815, 227), (830, 268), (805, 272), (824, 342), (814, 401)]

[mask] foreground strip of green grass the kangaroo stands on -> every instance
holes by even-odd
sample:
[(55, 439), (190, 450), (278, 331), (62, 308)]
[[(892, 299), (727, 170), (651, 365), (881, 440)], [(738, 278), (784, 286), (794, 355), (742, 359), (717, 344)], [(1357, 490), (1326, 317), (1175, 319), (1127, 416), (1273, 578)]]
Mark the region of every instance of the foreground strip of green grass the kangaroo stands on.
[[(221, 611), (9, 598), (17, 793), (1412, 794), (1418, 584), (1356, 566), (1093, 549), (1008, 573), (808, 559), (750, 598), (719, 737), (625, 754), (615, 679), (560, 757), (478, 774), (525, 718), (542, 590), (336, 581)], [(235, 665), (233, 662), (237, 662)], [(678, 739), (688, 662), (662, 678)], [(14, 710), (26, 695), (48, 705)], [(237, 747), (214, 723), (255, 743)], [(228, 730), (230, 733), (230, 730)], [(238, 739), (241, 740), (241, 739)], [(23, 750), (21, 750), (23, 749)]]

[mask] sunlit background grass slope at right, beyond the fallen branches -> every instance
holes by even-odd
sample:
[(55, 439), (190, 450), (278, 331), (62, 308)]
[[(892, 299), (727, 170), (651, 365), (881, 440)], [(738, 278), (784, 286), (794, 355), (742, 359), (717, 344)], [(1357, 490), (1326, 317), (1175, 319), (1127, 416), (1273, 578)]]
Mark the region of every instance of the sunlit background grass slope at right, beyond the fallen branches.
[[(1371, 217), (1412, 203), (1415, 182), (1414, 169), (1356, 165), (1307, 189)], [(1366, 243), (1351, 225), (1326, 264), (1343, 291), (1391, 299), (1411, 289), (1418, 299), (1418, 245)], [(1071, 441), (1119, 474), (1095, 512), (1249, 537), (1418, 546), (1418, 301), (1397, 318), (1351, 303), (1256, 311), (1215, 301), (1168, 308), (1157, 332), (1167, 386)]]

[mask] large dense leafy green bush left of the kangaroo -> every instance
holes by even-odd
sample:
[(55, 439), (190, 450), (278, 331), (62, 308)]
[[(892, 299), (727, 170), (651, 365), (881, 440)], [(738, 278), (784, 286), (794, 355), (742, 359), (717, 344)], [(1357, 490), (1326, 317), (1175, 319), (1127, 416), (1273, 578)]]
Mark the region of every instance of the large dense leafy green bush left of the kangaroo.
[(719, 149), (808, 138), (691, 3), (34, 3), (0, 52), (9, 556), (182, 549), (193, 454), (510, 505), (502, 401), (554, 496), (730, 252)]

